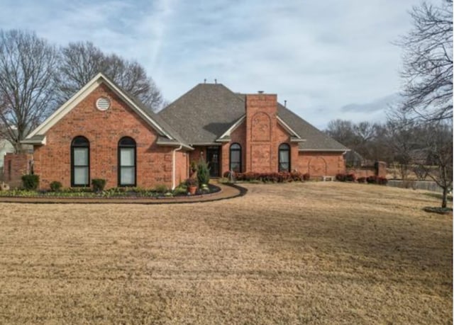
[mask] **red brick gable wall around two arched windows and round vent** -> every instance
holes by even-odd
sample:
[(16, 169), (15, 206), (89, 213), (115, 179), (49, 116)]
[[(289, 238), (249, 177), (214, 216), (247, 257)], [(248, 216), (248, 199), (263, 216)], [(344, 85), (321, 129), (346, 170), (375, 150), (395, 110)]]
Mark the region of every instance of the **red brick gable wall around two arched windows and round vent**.
[[(106, 111), (96, 108), (100, 96), (111, 100), (111, 107)], [(52, 181), (70, 187), (71, 142), (79, 135), (87, 137), (90, 143), (90, 179), (105, 178), (106, 188), (118, 186), (118, 141), (125, 136), (135, 139), (137, 145), (137, 186), (172, 186), (172, 149), (175, 148), (157, 146), (155, 130), (101, 84), (48, 130), (47, 144), (35, 146), (33, 159), (41, 188), (48, 188)]]

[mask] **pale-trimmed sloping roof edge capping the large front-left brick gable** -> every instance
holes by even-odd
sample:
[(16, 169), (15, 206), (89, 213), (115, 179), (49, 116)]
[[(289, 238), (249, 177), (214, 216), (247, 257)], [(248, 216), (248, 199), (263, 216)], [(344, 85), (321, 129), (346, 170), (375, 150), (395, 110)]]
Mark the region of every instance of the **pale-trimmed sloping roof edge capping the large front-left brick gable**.
[(159, 115), (155, 114), (152, 110), (147, 108), (143, 103), (138, 101), (136, 98), (127, 93), (120, 86), (107, 78), (104, 74), (99, 73), (94, 76), (82, 89), (77, 91), (66, 103), (60, 108), (55, 110), (52, 115), (49, 116), (43, 123), (35, 128), (22, 142), (28, 144), (45, 144), (45, 134), (48, 130), (60, 121), (67, 113), (77, 106), (89, 93), (92, 93), (100, 84), (106, 84), (106, 86), (114, 91), (125, 103), (131, 107), (132, 110), (137, 113), (140, 118), (143, 118), (157, 132), (160, 138), (167, 140), (169, 144), (182, 145), (187, 149), (192, 149), (187, 142), (184, 142), (181, 137), (170, 127)]

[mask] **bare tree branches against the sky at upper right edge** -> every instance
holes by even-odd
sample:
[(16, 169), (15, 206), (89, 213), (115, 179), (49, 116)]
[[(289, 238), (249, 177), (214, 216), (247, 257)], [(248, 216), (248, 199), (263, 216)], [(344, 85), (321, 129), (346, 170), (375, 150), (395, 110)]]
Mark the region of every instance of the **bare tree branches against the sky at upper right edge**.
[(411, 11), (414, 28), (401, 38), (403, 110), (425, 121), (453, 118), (453, 0), (423, 2)]

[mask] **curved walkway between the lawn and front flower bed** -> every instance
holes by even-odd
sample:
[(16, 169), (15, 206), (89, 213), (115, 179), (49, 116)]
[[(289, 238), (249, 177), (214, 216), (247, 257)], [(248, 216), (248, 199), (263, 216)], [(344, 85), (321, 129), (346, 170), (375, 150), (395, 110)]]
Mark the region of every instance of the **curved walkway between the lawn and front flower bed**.
[(216, 183), (221, 188), (219, 192), (194, 196), (179, 196), (176, 198), (52, 198), (52, 197), (0, 197), (0, 203), (78, 203), (78, 204), (176, 204), (199, 203), (226, 200), (243, 196), (247, 189), (231, 184)]

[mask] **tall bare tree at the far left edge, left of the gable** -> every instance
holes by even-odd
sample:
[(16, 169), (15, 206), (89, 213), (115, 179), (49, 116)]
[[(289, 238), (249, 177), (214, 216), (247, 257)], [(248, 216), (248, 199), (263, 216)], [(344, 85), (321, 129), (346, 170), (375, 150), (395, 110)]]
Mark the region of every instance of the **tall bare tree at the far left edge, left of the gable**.
[(54, 108), (57, 51), (35, 33), (0, 30), (0, 135), (21, 152), (21, 140)]

